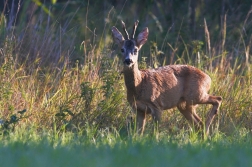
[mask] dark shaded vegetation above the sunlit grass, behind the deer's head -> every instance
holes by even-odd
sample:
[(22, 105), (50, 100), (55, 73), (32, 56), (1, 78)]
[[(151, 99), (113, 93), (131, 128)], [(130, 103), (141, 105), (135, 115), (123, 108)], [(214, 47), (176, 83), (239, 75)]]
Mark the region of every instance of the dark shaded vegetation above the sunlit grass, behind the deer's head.
[[(206, 57), (225, 57), (222, 66), (236, 58), (244, 62), (249, 59), (244, 47), (251, 43), (250, 0), (4, 0), (0, 5), (8, 26), (7, 30), (1, 29), (1, 45), (3, 37), (15, 31), (15, 38), (22, 41), (15, 48), (23, 53), (20, 59), (27, 59), (29, 54), (29, 60), (39, 56), (45, 64), (58, 63), (61, 57), (84, 63), (81, 43), (85, 41), (88, 50), (93, 48), (90, 45), (96, 45), (95, 50), (99, 51), (111, 49), (110, 28), (115, 25), (120, 29), (120, 20), (124, 20), (129, 31), (135, 20), (140, 21), (137, 32), (148, 27), (149, 42), (142, 55), (150, 57), (153, 52), (162, 51), (160, 61), (165, 64), (183, 56), (182, 63), (188, 63), (189, 59), (196, 59), (198, 51), (205, 52), (202, 56)], [(35, 37), (29, 38), (29, 33), (36, 33), (35, 37), (41, 39), (34, 43), (31, 38)]]

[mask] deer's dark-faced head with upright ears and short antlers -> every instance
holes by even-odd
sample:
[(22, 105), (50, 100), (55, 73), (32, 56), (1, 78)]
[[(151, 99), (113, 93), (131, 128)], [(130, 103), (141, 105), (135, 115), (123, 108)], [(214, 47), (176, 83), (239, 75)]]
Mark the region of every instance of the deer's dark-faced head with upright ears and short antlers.
[(123, 63), (128, 68), (131, 68), (135, 63), (137, 63), (138, 52), (143, 46), (143, 44), (145, 44), (145, 42), (147, 41), (149, 35), (149, 30), (146, 27), (142, 32), (138, 34), (137, 38), (134, 39), (137, 25), (138, 21), (136, 21), (133, 26), (130, 38), (123, 21), (122, 21), (122, 27), (126, 35), (125, 38), (116, 27), (112, 27), (112, 34), (114, 41), (119, 45), (119, 47), (121, 47), (121, 53), (123, 55)]

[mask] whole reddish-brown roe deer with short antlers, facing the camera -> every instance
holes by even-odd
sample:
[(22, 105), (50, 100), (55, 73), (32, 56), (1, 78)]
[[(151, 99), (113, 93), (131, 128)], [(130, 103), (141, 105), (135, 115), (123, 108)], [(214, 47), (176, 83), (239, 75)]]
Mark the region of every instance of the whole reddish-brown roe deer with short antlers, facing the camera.
[(208, 94), (211, 78), (201, 70), (189, 65), (167, 65), (156, 69), (139, 70), (138, 53), (148, 38), (148, 28), (134, 39), (138, 21), (129, 34), (122, 22), (125, 38), (116, 27), (112, 27), (114, 41), (121, 47), (123, 74), (127, 88), (127, 100), (137, 114), (137, 130), (143, 134), (146, 114), (160, 121), (162, 110), (177, 107), (196, 130), (203, 129), (201, 118), (196, 114), (198, 104), (212, 104), (207, 114), (205, 134), (217, 114), (222, 97)]

